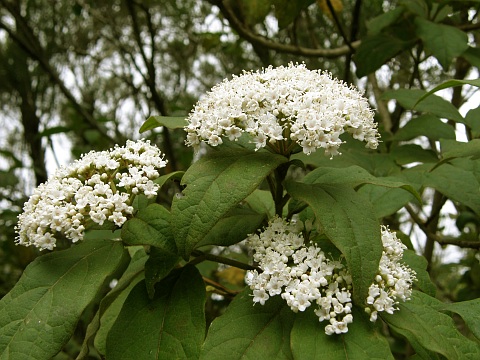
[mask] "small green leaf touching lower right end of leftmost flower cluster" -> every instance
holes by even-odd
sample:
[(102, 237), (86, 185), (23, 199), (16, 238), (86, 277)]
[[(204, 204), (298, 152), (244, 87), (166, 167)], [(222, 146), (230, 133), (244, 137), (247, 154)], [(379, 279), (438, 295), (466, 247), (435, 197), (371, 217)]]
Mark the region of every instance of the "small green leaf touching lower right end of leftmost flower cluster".
[(176, 254), (170, 221), (171, 214), (165, 207), (150, 204), (123, 225), (122, 240), (128, 245), (151, 245)]

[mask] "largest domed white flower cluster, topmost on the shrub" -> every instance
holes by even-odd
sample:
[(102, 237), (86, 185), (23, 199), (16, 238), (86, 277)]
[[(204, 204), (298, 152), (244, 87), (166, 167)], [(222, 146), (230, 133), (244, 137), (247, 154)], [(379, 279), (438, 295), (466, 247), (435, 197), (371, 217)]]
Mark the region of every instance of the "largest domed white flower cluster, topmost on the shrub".
[[(216, 85), (189, 117), (186, 144), (211, 146), (246, 132), (256, 149), (269, 146), (288, 155), (300, 145), (305, 154), (318, 148), (339, 154), (345, 131), (375, 149), (379, 134), (367, 100), (328, 72), (304, 64), (244, 72)], [(298, 144), (298, 145), (297, 145)]]

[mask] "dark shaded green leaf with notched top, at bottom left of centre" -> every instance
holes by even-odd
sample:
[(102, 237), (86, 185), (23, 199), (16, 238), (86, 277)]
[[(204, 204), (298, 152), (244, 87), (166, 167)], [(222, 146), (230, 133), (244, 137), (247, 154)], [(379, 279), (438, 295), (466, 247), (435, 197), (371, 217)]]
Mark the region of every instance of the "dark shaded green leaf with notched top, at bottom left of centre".
[(130, 292), (107, 337), (107, 359), (198, 359), (205, 335), (205, 284), (187, 265), (156, 286)]

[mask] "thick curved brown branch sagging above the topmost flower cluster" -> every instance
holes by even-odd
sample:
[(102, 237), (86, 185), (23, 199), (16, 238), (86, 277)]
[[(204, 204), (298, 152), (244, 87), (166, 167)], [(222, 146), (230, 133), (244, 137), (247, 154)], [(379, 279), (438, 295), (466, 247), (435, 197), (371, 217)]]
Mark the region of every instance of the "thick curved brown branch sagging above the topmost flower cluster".
[[(288, 53), (292, 55), (302, 55), (307, 57), (324, 57), (324, 58), (337, 58), (346, 55), (351, 52), (347, 45), (340, 46), (334, 49), (311, 49), (300, 46), (293, 46), (288, 44), (281, 44), (274, 42), (264, 36), (255, 34), (248, 29), (235, 15), (232, 8), (224, 0), (208, 0), (212, 5), (217, 6), (223, 16), (229, 21), (231, 27), (244, 39), (248, 40), (252, 44), (266, 47), (270, 50), (275, 50), (281, 53)], [(360, 40), (354, 41), (351, 44), (351, 48), (356, 49), (360, 46)]]

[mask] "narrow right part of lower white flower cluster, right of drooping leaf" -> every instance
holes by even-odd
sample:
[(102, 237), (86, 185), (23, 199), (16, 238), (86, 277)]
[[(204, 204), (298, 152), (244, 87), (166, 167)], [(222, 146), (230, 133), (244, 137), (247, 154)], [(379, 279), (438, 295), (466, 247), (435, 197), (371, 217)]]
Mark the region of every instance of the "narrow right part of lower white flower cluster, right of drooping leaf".
[(383, 252), (378, 266), (378, 275), (368, 289), (365, 311), (370, 314), (370, 321), (376, 321), (378, 312), (393, 314), (398, 299), (407, 301), (412, 295), (412, 284), (416, 273), (400, 263), (403, 251), (407, 248), (395, 233), (382, 226)]

